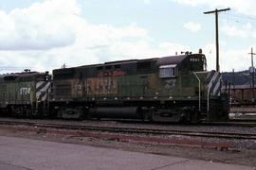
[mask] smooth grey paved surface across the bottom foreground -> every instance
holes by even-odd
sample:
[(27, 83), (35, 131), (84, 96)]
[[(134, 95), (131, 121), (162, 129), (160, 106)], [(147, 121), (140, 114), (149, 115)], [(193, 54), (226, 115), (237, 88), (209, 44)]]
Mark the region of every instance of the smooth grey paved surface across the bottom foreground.
[(243, 165), (0, 136), (0, 169), (253, 170)]

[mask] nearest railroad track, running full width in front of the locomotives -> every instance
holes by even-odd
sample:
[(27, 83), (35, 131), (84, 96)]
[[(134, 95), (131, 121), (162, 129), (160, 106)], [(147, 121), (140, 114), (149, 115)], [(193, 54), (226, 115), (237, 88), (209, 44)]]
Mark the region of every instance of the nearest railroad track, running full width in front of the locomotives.
[(256, 140), (256, 133), (223, 133), (223, 132), (206, 132), (206, 131), (189, 131), (189, 130), (165, 130), (165, 129), (151, 129), (151, 128), (131, 128), (131, 127), (96, 127), (96, 126), (78, 126), (67, 124), (48, 124), (48, 123), (31, 123), (21, 121), (0, 121), (0, 125), (4, 126), (27, 126), (36, 127), (39, 129), (55, 128), (68, 130), (82, 130), (82, 131), (100, 131), (112, 133), (125, 134), (146, 134), (146, 135), (164, 135), (164, 136), (192, 136), (205, 138), (226, 138), (226, 139), (241, 139), (241, 140)]

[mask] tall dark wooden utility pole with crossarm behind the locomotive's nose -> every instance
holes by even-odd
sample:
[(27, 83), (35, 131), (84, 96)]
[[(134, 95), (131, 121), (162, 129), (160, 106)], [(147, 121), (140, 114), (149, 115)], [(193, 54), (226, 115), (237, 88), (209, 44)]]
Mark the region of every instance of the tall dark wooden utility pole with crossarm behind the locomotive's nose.
[(219, 65), (219, 26), (218, 26), (218, 13), (222, 11), (230, 10), (230, 8), (223, 8), (223, 9), (215, 9), (211, 11), (206, 11), (204, 14), (215, 13), (215, 26), (216, 26), (216, 71), (220, 71)]

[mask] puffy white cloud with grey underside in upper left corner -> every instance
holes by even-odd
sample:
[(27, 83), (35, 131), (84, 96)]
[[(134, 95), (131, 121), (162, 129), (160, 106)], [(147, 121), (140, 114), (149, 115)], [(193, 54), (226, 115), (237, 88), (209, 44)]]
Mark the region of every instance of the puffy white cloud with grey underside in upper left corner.
[(40, 50), (72, 44), (76, 34), (68, 19), (79, 13), (75, 0), (46, 0), (9, 14), (0, 11), (0, 49)]

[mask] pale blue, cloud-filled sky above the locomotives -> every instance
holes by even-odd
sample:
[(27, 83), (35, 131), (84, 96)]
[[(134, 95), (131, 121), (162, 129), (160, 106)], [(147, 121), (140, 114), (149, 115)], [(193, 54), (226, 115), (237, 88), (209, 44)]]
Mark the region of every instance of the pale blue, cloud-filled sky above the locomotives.
[(230, 8), (219, 13), (220, 71), (247, 70), (256, 52), (255, 0), (3, 0), (0, 74), (200, 48), (214, 70), (215, 15), (203, 12), (215, 8)]

